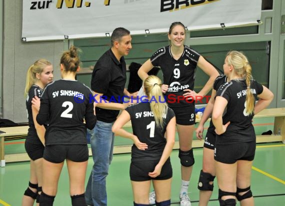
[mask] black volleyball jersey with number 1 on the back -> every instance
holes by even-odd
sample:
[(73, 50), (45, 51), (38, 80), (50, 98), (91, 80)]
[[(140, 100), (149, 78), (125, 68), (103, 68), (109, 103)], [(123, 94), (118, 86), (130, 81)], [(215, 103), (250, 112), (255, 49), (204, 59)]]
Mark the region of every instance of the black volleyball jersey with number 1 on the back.
[(131, 120), (133, 134), (139, 141), (146, 143), (148, 148), (139, 150), (135, 144), (131, 147), (131, 160), (157, 160), (160, 159), (166, 144), (164, 133), (168, 122), (174, 117), (174, 112), (168, 107), (167, 113), (163, 116), (163, 127), (157, 127), (153, 113), (150, 110), (149, 102), (142, 101), (125, 109)]

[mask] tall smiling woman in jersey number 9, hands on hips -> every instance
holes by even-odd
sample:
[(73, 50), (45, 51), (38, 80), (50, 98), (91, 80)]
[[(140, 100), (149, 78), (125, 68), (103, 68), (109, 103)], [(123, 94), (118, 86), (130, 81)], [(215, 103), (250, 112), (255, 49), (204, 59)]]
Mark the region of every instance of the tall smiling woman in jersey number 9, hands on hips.
[[(188, 186), (194, 164), (192, 138), (195, 124), (195, 99), (204, 96), (212, 86), (217, 70), (199, 53), (184, 45), (185, 26), (181, 22), (173, 22), (168, 31), (170, 45), (159, 48), (138, 70), (139, 77), (144, 80), (153, 66), (160, 66), (163, 73), (161, 90), (166, 94), (168, 106), (176, 116), (176, 127), (179, 137), (179, 158), (181, 163), (180, 205), (191, 205), (188, 197)], [(209, 79), (203, 88), (196, 93), (194, 76), (196, 66), (201, 68)], [(188, 97), (187, 97), (188, 96)], [(190, 97), (189, 97), (190, 96)], [(155, 192), (149, 194), (153, 204)]]

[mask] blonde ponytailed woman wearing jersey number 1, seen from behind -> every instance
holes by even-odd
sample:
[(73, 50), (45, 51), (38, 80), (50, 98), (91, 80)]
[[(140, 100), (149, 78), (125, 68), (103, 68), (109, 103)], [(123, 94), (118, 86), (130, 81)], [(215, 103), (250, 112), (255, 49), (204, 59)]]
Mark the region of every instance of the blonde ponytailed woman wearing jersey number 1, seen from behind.
[[(149, 205), (148, 192), (152, 180), (156, 192), (155, 204), (168, 206), (172, 179), (169, 156), (175, 141), (175, 116), (163, 99), (161, 80), (157, 76), (148, 76), (143, 81), (143, 88), (148, 99), (123, 110), (112, 131), (132, 139), (134, 143), (129, 169), (133, 205)], [(122, 128), (129, 120), (133, 133)]]

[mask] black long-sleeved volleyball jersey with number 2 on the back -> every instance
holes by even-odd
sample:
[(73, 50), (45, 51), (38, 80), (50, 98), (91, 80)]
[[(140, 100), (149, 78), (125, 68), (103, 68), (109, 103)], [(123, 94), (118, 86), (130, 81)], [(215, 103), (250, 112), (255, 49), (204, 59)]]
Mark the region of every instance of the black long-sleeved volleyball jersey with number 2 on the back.
[(96, 123), (90, 97), (91, 90), (76, 80), (60, 79), (46, 85), (36, 116), (39, 124), (49, 123), (45, 145), (87, 143), (86, 127), (92, 129)]

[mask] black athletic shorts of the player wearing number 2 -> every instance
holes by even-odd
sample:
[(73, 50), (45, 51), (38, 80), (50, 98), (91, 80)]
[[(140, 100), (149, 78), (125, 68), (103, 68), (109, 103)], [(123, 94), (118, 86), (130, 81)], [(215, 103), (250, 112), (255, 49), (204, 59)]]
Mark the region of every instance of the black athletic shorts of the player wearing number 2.
[(87, 144), (56, 144), (46, 145), (43, 158), (52, 163), (60, 163), (64, 159), (82, 162), (89, 158)]

